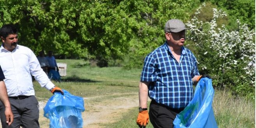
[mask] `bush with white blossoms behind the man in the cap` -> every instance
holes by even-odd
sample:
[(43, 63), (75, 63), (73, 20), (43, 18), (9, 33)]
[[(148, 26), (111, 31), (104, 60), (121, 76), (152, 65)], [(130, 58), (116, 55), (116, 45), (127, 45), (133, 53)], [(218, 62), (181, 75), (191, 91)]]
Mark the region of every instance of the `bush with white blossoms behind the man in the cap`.
[(197, 19), (202, 7), (197, 9), (194, 18), (187, 22), (189, 31), (186, 35), (195, 56), (201, 74), (210, 74), (213, 85), (225, 87), (234, 94), (253, 98), (255, 95), (255, 31), (247, 24), (240, 24), (229, 31), (216, 21), (227, 16), (223, 10), (213, 9), (210, 22)]

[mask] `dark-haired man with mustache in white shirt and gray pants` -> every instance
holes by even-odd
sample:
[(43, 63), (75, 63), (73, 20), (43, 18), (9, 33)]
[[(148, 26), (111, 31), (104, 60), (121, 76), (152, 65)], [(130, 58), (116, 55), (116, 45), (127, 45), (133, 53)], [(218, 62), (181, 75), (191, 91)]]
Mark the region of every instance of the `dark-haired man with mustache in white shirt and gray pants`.
[[(4, 109), (0, 109), (2, 128), (40, 128), (38, 101), (31, 81), (35, 80), (52, 93), (61, 88), (49, 80), (41, 68), (36, 55), (28, 47), (18, 45), (18, 31), (13, 24), (3, 25), (0, 29), (2, 46), (0, 48), (0, 65), (5, 75), (5, 85), (9, 96), (14, 121), (10, 126), (5, 124)], [(0, 105), (1, 107), (2, 105)]]

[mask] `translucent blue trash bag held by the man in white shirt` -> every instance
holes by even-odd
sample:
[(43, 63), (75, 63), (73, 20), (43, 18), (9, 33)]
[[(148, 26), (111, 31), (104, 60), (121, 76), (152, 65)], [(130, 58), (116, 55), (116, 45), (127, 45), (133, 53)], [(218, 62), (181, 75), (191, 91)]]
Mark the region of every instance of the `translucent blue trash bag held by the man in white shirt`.
[(43, 108), (43, 116), (50, 119), (50, 128), (83, 128), (83, 97), (63, 92), (64, 95), (57, 92), (50, 97)]

